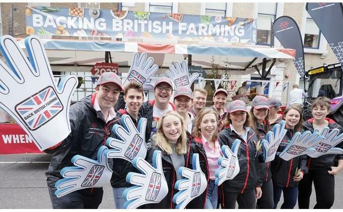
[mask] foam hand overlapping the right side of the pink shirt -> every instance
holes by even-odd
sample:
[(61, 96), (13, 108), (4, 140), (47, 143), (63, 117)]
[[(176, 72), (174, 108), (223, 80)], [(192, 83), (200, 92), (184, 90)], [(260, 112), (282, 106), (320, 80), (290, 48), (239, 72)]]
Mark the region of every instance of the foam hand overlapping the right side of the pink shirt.
[(232, 180), (236, 177), (239, 173), (239, 163), (238, 163), (238, 149), (239, 149), (240, 141), (236, 139), (231, 149), (223, 145), (222, 146), (222, 153), (224, 157), (219, 157), (218, 164), (221, 165), (215, 175), (216, 180), (215, 184), (220, 186), (226, 180)]

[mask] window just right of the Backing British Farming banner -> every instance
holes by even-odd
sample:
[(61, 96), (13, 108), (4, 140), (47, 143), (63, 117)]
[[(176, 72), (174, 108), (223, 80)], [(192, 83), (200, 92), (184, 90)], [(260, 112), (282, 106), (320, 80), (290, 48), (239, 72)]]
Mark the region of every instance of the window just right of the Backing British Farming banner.
[(276, 17), (277, 3), (259, 3), (257, 14), (257, 44), (270, 45), (271, 26)]

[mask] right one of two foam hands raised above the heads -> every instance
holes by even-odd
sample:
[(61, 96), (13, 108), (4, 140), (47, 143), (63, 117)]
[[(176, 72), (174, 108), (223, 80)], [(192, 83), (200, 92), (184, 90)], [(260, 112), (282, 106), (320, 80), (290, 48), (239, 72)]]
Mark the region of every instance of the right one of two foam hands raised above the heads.
[(188, 65), (185, 60), (182, 60), (181, 65), (178, 61), (174, 65), (169, 65), (169, 70), (166, 71), (167, 76), (169, 76), (175, 87), (188, 87), (192, 85), (193, 81), (199, 77), (199, 73), (188, 74)]

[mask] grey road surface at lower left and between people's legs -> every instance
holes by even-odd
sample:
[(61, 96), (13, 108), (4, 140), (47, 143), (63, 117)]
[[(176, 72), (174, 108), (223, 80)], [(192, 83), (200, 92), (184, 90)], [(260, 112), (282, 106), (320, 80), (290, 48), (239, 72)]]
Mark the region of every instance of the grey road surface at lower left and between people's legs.
[[(0, 155), (0, 209), (5, 208), (52, 208), (44, 172), (51, 155), (13, 154)], [(343, 172), (335, 178), (335, 200), (331, 208), (343, 208)], [(104, 187), (103, 202), (99, 208), (114, 208), (110, 184)], [(283, 199), (281, 197), (278, 208)], [(311, 196), (310, 208), (316, 203), (315, 193)], [(296, 205), (295, 208), (298, 208)]]

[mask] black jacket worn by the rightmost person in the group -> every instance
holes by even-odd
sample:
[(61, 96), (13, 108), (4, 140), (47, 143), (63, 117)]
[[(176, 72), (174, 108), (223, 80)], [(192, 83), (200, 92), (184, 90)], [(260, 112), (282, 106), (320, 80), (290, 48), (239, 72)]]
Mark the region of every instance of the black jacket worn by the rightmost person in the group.
[[(336, 122), (334, 122), (334, 120), (329, 119), (329, 118), (325, 118), (326, 120), (329, 121), (329, 125), (328, 128), (329, 130), (333, 130), (333, 129), (339, 129), (340, 133), (343, 133), (343, 128), (337, 124)], [(304, 126), (304, 130), (308, 130), (311, 131), (312, 133), (314, 132), (313, 129), (313, 118), (304, 121), (303, 122), (303, 126)], [(336, 145), (336, 147), (343, 147), (343, 142), (339, 143)], [(335, 157), (336, 159), (343, 159), (343, 155), (342, 154), (327, 154), (327, 155), (322, 155), (320, 157), (317, 158), (312, 158), (310, 156), (308, 156), (308, 162), (307, 162), (307, 167), (308, 169), (312, 170), (312, 169), (325, 169), (325, 172), (327, 172), (328, 170), (331, 170), (331, 166), (334, 166), (334, 161), (335, 161)]]

